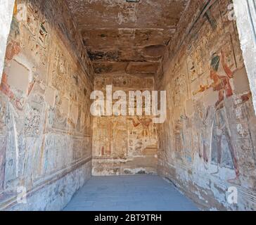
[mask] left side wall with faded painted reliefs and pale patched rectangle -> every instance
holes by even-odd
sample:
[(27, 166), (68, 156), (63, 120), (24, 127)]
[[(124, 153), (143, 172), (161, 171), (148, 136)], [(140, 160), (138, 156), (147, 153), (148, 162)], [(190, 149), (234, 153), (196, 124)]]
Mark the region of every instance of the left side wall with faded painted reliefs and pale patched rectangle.
[(1, 210), (61, 210), (89, 179), (93, 76), (62, 1), (16, 1), (0, 86)]

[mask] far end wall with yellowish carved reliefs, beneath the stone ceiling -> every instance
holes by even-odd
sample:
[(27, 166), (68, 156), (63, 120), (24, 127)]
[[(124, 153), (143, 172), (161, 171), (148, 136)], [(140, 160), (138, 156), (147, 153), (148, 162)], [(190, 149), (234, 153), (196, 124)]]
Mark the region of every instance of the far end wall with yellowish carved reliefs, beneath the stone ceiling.
[[(107, 85), (113, 85), (113, 92), (125, 91), (128, 97), (129, 91), (153, 91), (154, 78), (127, 74), (96, 76), (94, 90), (105, 94)], [(151, 116), (94, 117), (93, 131), (93, 175), (156, 174), (158, 131)]]

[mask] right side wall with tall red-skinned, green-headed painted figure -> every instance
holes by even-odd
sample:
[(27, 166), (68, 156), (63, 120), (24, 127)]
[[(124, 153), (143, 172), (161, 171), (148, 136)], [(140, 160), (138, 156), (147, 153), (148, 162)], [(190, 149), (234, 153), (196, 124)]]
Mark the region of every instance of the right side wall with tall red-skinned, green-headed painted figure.
[[(256, 117), (231, 1), (215, 1), (193, 25), (158, 89), (167, 90), (158, 172), (201, 207), (256, 207)], [(182, 23), (182, 21), (181, 21)], [(228, 189), (238, 190), (238, 204)]]

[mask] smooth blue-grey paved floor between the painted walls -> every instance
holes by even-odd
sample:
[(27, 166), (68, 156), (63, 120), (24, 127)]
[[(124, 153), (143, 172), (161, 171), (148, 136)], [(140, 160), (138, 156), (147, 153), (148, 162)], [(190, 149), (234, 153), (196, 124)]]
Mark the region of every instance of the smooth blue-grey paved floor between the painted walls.
[(65, 211), (198, 210), (160, 176), (94, 176), (72, 198)]

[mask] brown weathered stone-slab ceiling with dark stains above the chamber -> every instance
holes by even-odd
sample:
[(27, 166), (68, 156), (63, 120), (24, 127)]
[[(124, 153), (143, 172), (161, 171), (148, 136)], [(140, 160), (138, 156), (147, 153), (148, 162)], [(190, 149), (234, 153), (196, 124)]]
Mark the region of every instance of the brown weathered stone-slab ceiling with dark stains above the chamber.
[(96, 74), (155, 74), (188, 0), (66, 0)]

